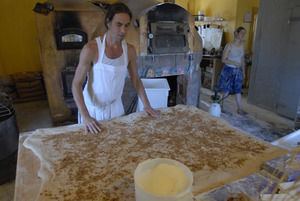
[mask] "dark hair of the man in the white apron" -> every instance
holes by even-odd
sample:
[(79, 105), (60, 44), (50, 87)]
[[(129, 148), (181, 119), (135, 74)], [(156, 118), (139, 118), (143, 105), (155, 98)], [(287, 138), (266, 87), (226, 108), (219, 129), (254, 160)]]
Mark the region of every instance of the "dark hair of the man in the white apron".
[(109, 7), (105, 16), (104, 24), (107, 29), (108, 29), (107, 23), (111, 22), (114, 16), (118, 13), (127, 13), (130, 17), (130, 20), (132, 19), (132, 12), (124, 3), (114, 3)]

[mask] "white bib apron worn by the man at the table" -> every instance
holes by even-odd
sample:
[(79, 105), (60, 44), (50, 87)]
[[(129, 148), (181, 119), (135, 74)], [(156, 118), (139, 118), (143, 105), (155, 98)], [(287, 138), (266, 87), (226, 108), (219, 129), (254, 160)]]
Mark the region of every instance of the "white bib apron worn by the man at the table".
[[(106, 35), (103, 37), (103, 43), (100, 37), (96, 38), (99, 57), (97, 63), (88, 72), (88, 81), (83, 90), (83, 98), (89, 114), (97, 121), (119, 117), (125, 113), (121, 97), (127, 75), (127, 44), (122, 41), (123, 65), (112, 66), (103, 63), (105, 38)], [(80, 114), (78, 123), (82, 123)]]

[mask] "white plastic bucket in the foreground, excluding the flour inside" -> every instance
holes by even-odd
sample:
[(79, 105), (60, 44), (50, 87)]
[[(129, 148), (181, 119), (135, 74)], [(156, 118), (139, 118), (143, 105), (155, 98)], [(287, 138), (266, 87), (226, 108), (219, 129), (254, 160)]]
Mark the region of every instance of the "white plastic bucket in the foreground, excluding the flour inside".
[[(137, 179), (141, 173), (148, 169), (152, 169), (158, 164), (166, 163), (173, 166), (178, 166), (184, 169), (185, 175), (189, 179), (189, 183), (187, 187), (179, 192), (176, 195), (170, 195), (170, 196), (162, 196), (162, 195), (155, 195), (152, 193), (149, 193), (145, 190), (143, 190), (138, 182)], [(135, 186), (135, 198), (136, 201), (190, 201), (193, 200), (194, 195), (192, 194), (192, 187), (193, 187), (193, 174), (190, 171), (190, 169), (185, 166), (184, 164), (171, 160), (166, 158), (156, 158), (156, 159), (149, 159), (144, 162), (139, 163), (137, 166), (135, 172), (134, 172), (134, 186)]]

